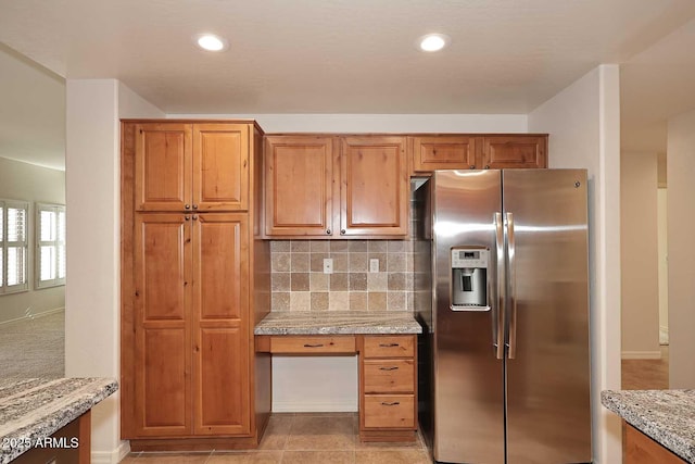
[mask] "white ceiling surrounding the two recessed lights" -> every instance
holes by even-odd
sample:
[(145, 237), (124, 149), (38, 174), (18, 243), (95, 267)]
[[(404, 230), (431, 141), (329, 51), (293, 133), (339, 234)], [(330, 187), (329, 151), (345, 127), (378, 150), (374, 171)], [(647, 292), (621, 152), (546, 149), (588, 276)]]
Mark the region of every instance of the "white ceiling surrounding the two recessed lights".
[[(692, 0), (4, 1), (0, 156), (50, 151), (55, 75), (117, 78), (169, 114), (526, 114), (601, 63), (622, 64), (623, 147), (662, 150), (665, 118), (695, 108), (694, 18)], [(229, 50), (198, 50), (203, 32)], [(418, 51), (431, 32), (450, 47)]]

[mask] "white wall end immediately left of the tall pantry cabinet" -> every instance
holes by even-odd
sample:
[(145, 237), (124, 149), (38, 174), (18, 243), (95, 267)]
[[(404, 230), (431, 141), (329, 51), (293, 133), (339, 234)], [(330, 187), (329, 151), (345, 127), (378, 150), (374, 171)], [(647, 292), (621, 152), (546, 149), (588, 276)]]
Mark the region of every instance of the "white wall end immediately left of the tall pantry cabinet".
[[(164, 114), (113, 79), (66, 83), (65, 375), (119, 376), (119, 117)], [(92, 462), (117, 463), (119, 396), (92, 411)]]

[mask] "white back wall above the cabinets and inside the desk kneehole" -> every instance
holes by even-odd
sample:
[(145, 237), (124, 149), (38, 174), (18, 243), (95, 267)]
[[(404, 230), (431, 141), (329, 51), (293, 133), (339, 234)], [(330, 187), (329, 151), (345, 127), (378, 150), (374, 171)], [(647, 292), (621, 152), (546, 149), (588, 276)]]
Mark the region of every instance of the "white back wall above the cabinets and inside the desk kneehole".
[[(253, 118), (266, 133), (526, 133), (523, 114), (169, 114)], [(331, 376), (325, 367), (331, 365)], [(316, 389), (316, 386), (321, 386)], [(354, 358), (273, 359), (273, 411), (357, 411)]]

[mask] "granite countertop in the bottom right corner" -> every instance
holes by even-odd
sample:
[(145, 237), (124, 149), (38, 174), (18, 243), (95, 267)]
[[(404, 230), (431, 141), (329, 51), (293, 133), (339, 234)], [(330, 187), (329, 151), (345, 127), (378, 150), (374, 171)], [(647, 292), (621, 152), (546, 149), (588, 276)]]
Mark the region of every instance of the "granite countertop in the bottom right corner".
[(695, 390), (606, 390), (601, 402), (644, 435), (695, 463)]

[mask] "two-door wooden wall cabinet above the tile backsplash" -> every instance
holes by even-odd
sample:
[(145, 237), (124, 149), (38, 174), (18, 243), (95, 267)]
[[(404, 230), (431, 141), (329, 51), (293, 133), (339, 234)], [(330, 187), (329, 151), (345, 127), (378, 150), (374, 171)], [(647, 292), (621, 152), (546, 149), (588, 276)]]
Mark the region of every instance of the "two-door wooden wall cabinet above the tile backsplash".
[(268, 236), (405, 236), (405, 137), (268, 136)]

